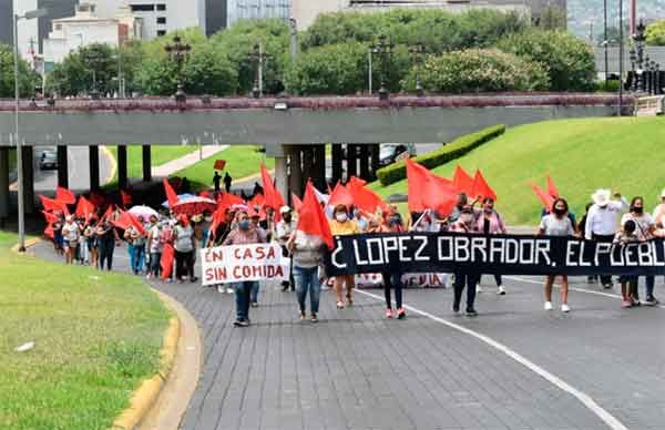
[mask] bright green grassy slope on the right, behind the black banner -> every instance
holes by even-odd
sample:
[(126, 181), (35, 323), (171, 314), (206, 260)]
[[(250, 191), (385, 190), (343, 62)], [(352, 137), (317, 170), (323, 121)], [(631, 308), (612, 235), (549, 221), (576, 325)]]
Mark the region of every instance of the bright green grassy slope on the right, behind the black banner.
[[(511, 225), (538, 224), (541, 204), (528, 183), (544, 187), (546, 174), (577, 216), (600, 187), (618, 188), (628, 199), (644, 196), (651, 211), (665, 187), (664, 142), (665, 117), (548, 121), (510, 129), (434, 172), (451, 177), (458, 162), (471, 174), (481, 168)], [(371, 187), (383, 197), (407, 193), (406, 180)]]

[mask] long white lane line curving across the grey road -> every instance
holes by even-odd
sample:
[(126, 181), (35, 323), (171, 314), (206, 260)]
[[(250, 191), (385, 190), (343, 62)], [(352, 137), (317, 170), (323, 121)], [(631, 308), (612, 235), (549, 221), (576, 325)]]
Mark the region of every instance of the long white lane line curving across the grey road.
[[(356, 291), (359, 294), (366, 295), (368, 297), (375, 298), (377, 300), (383, 301), (383, 297), (378, 296), (376, 294), (368, 293), (368, 291), (365, 291), (361, 289), (357, 289)], [(550, 373), (548, 370), (539, 367), (538, 365), (530, 361), (525, 357), (522, 357), (520, 354), (518, 354), (516, 351), (513, 351), (505, 345), (500, 344), (499, 341), (492, 339), (489, 336), (482, 335), (478, 331), (473, 331), (467, 327), (460, 326), (459, 324), (454, 324), (447, 319), (437, 317), (436, 315), (429, 314), (424, 310), (420, 310), (420, 309), (415, 308), (409, 305), (403, 305), (403, 307), (415, 314), (427, 317), (436, 322), (442, 324), (442, 325), (444, 325), (449, 328), (452, 328), (457, 331), (463, 332), (464, 335), (472, 336), (472, 337), (477, 338), (478, 340), (489, 345), (490, 347), (505, 354), (508, 357), (512, 358), (520, 365), (524, 366), (529, 370), (533, 371), (534, 373), (539, 375), (540, 377), (548, 380), (552, 385), (556, 386), (559, 389), (567, 392), (569, 395), (571, 395), (574, 398), (576, 398), (577, 400), (580, 400), (582, 402), (582, 405), (584, 405), (596, 417), (598, 417), (605, 424), (607, 424), (607, 427), (610, 429), (612, 429), (612, 430), (628, 430), (627, 427), (625, 427), (620, 420), (617, 420), (614, 416), (612, 416), (610, 412), (607, 412), (605, 409), (603, 409), (598, 403), (596, 403), (595, 400), (593, 400), (593, 398), (591, 398), (591, 396), (589, 396), (587, 393), (585, 393), (583, 391), (580, 391), (579, 389), (576, 389), (575, 387), (565, 382), (557, 376)]]

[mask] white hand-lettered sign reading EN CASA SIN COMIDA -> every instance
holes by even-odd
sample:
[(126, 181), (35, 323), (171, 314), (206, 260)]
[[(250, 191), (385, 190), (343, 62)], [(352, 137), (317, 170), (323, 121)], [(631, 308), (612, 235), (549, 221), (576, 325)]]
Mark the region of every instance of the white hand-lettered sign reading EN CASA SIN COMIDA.
[(218, 246), (201, 250), (203, 285), (288, 279), (290, 259), (277, 244)]

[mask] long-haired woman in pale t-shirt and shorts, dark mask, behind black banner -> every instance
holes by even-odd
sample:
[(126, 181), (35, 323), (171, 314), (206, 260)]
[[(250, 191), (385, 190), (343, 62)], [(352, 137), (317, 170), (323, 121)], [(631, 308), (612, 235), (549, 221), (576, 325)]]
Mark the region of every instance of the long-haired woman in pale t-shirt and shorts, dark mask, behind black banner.
[[(574, 236), (575, 229), (573, 223), (567, 216), (567, 202), (561, 197), (556, 198), (552, 204), (552, 213), (545, 215), (541, 219), (538, 234), (545, 236)], [(545, 310), (552, 310), (552, 286), (556, 275), (548, 275), (545, 279)], [(561, 311), (569, 313), (571, 310), (567, 304), (569, 281), (567, 275), (561, 275)]]

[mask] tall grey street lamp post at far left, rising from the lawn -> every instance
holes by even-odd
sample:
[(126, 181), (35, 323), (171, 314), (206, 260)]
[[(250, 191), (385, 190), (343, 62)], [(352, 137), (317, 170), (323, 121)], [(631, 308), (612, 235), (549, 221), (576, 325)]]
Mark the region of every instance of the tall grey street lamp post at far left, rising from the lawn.
[(17, 181), (19, 183), (19, 252), (25, 252), (25, 201), (23, 196), (23, 147), (19, 136), (19, 20), (41, 18), (49, 13), (47, 9), (35, 9), (23, 16), (13, 16), (13, 66), (14, 66), (14, 142), (17, 145)]

